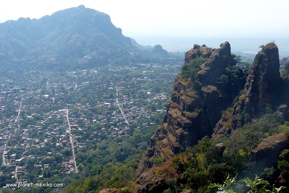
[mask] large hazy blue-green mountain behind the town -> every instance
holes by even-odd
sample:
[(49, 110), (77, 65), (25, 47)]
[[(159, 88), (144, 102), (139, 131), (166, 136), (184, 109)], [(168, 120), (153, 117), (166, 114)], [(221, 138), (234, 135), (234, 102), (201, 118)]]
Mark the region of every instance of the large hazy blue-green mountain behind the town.
[(151, 62), (152, 47), (122, 34), (108, 14), (80, 5), (40, 19), (19, 18), (0, 24), (0, 62), (8, 71), (85, 69)]

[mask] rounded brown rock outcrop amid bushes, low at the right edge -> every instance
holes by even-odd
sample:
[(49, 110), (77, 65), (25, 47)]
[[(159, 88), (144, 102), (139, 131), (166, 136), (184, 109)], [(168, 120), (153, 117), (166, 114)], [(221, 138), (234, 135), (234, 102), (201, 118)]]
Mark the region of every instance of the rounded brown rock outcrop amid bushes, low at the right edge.
[(273, 135), (263, 139), (261, 143), (251, 151), (251, 161), (257, 162), (256, 167), (262, 171), (266, 167), (276, 165), (281, 151), (288, 147), (289, 140), (287, 135), (284, 133)]

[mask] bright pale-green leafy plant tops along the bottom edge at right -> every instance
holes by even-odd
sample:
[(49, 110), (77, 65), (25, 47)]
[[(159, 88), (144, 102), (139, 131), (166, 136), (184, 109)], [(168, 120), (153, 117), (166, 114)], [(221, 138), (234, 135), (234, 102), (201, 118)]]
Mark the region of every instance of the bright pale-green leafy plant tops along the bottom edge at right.
[[(230, 178), (228, 175), (228, 177), (225, 180), (223, 185), (215, 184), (215, 183), (210, 184), (208, 186), (208, 189), (209, 188), (218, 188), (218, 190), (220, 190), (220, 191), (218, 191), (217, 193), (236, 193), (236, 192), (234, 192), (234, 190), (229, 189), (229, 186), (231, 186), (232, 184), (237, 184), (236, 178), (237, 178), (237, 176), (234, 178)], [(283, 193), (281, 190), (286, 188), (284, 186), (281, 186), (280, 188), (275, 188), (274, 184), (273, 184), (273, 190), (272, 191), (267, 190), (265, 188), (265, 186), (259, 188), (258, 185), (269, 184), (269, 183), (268, 183), (268, 181), (265, 181), (263, 179), (259, 179), (259, 176), (257, 176), (257, 175), (255, 177), (255, 180), (253, 180), (253, 181), (247, 177), (244, 180), (240, 180), (239, 182), (245, 182), (246, 186), (251, 188), (251, 190), (248, 193)]]

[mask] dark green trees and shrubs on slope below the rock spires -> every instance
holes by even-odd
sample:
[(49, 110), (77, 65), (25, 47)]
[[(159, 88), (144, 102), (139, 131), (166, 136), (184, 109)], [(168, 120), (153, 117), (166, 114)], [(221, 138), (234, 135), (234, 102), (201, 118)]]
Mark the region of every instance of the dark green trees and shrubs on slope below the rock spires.
[[(267, 114), (264, 114), (255, 123), (245, 124), (240, 130), (232, 132), (230, 136), (224, 137), (221, 141), (214, 141), (208, 136), (204, 137), (197, 145), (188, 148), (185, 152), (177, 155), (174, 163), (179, 161), (184, 163), (184, 173), (180, 177), (179, 183), (198, 193), (212, 192), (208, 190), (211, 183), (222, 183), (228, 174), (253, 176), (255, 172), (255, 163), (250, 162), (251, 150), (259, 144), (262, 139), (270, 137), (277, 133), (288, 130), (288, 122), (277, 113), (273, 113), (268, 107)], [(224, 152), (216, 145), (223, 143)], [(273, 183), (273, 176), (280, 174), (283, 169), (289, 168), (289, 150), (284, 150), (280, 155), (278, 168), (265, 168), (264, 171), (258, 171), (258, 175)], [(268, 188), (268, 183), (265, 184)], [(182, 190), (181, 184), (177, 184), (166, 190), (166, 193), (173, 193), (173, 190)], [(237, 192), (244, 193), (244, 187), (239, 184), (236, 187)], [(181, 191), (178, 191), (179, 193)]]

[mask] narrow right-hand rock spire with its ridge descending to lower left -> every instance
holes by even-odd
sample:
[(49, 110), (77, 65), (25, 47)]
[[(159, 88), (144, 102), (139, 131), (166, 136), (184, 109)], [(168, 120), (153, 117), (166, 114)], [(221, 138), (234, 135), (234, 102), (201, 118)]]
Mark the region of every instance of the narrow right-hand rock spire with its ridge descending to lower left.
[(278, 88), (281, 87), (279, 67), (278, 47), (274, 43), (268, 43), (254, 59), (244, 94), (233, 105), (233, 111), (228, 112), (229, 116), (223, 116), (216, 124), (214, 138), (223, 137), (239, 128), (243, 121), (240, 116), (253, 118), (262, 111), (266, 103), (277, 101)]

